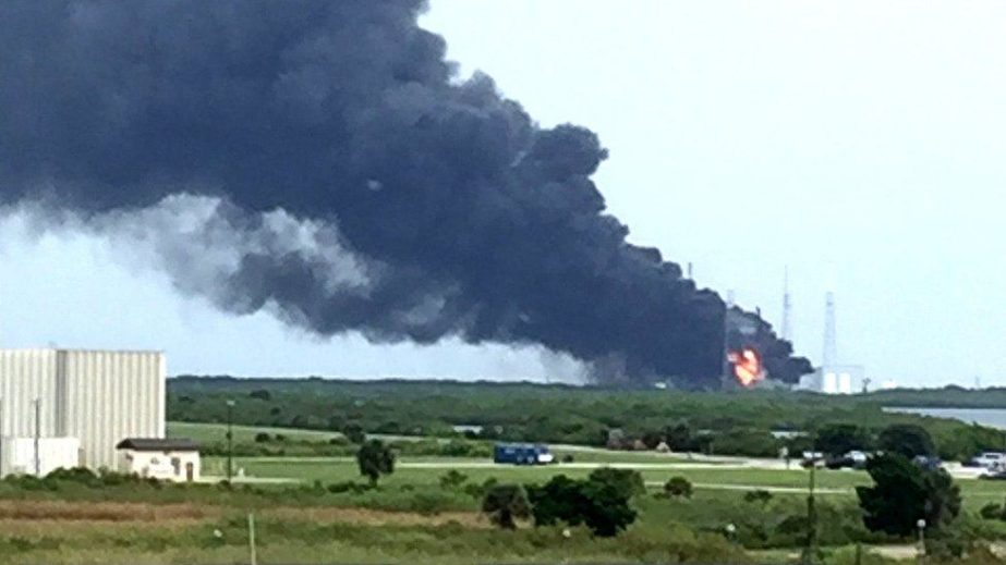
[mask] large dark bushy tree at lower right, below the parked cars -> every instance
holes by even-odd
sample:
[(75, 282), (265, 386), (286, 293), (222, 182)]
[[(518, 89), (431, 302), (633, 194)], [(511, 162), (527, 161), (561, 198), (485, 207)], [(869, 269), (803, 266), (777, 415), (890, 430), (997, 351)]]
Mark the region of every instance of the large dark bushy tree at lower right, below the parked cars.
[(873, 487), (857, 487), (863, 524), (872, 531), (910, 536), (922, 518), (940, 530), (960, 513), (960, 489), (943, 469), (924, 470), (898, 454), (871, 457)]

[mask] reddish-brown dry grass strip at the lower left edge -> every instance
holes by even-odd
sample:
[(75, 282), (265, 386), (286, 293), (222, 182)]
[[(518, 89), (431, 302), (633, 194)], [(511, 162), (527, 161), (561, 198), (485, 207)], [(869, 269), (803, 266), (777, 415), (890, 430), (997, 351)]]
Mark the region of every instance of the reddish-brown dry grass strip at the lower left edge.
[(0, 519), (5, 520), (166, 521), (219, 514), (219, 508), (194, 504), (0, 501)]

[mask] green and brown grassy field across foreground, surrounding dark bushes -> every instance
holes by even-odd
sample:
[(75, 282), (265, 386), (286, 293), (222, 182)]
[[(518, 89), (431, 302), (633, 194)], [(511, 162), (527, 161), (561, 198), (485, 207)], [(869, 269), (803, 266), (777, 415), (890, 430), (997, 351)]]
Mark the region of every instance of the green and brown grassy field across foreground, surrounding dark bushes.
[[(170, 426), (174, 437), (220, 441), (219, 425)], [(258, 432), (290, 441), (327, 441), (326, 432), (234, 428), (234, 439)], [(0, 564), (7, 563), (239, 563), (246, 560), (247, 513), (256, 516), (262, 563), (780, 563), (793, 561), (805, 514), (809, 471), (705, 465), (656, 453), (570, 449), (566, 465), (517, 467), (477, 457), (400, 457), (395, 474), (376, 490), (330, 492), (362, 483), (352, 457), (238, 457), (247, 478), (276, 483), (92, 488), (68, 483), (19, 490), (0, 482)], [(561, 454), (561, 452), (560, 452)], [(206, 457), (205, 472), (220, 475), (223, 458)], [(637, 521), (616, 539), (573, 528), (499, 531), (480, 514), (480, 499), (463, 488), (443, 487), (449, 470), (469, 483), (544, 482), (557, 474), (584, 477), (617, 464), (638, 468), (650, 491), (633, 499)], [(691, 499), (659, 495), (660, 484), (681, 476), (695, 486)], [(860, 471), (816, 474), (820, 541), (828, 565), (851, 564), (850, 540), (901, 544), (863, 528), (855, 487)], [(1006, 483), (960, 480), (969, 524), (986, 539), (1006, 539), (1006, 523), (979, 520), (977, 509), (1006, 499)], [(744, 494), (767, 489), (763, 501)], [(793, 521), (797, 520), (797, 521)], [(727, 539), (727, 525), (736, 535)], [(844, 546), (844, 548), (843, 548)], [(910, 548), (909, 548), (910, 550)], [(995, 561), (974, 562), (994, 563)], [(878, 564), (873, 556), (864, 563)], [(883, 562), (887, 563), (887, 562)], [(936, 563), (931, 561), (930, 563)]]

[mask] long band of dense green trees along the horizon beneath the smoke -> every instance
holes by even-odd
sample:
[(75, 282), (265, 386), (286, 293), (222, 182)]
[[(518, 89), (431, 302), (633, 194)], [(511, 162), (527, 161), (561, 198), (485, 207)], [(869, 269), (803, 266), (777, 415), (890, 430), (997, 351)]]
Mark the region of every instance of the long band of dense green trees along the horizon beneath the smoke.
[[(911, 394), (917, 400), (920, 393)], [(532, 383), (186, 377), (169, 379), (168, 417), (223, 422), (226, 401), (234, 400), (234, 423), (330, 430), (347, 437), (468, 435), (617, 449), (654, 449), (663, 442), (674, 451), (776, 456), (784, 446), (811, 447), (812, 438), (828, 426), (855, 425), (875, 440), (883, 429), (904, 423), (925, 429), (935, 454), (945, 459), (1006, 446), (999, 430), (886, 413), (889, 393), (882, 397), (883, 402), (874, 395), (777, 391), (688, 393)], [(780, 435), (780, 431), (791, 433)]]

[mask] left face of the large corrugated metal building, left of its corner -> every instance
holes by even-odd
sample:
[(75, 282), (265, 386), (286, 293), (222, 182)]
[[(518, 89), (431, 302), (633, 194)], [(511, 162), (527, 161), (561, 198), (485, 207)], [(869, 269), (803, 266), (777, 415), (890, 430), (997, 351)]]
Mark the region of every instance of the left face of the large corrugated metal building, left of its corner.
[(41, 401), (41, 435), (57, 434), (60, 396), (53, 349), (0, 349), (0, 434), (35, 435), (35, 401)]

